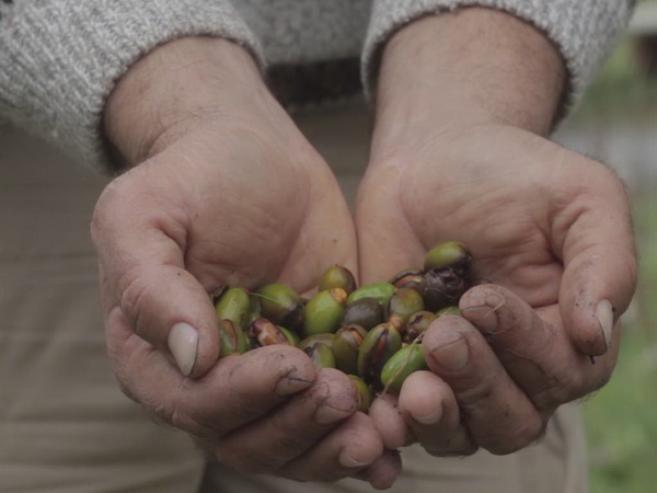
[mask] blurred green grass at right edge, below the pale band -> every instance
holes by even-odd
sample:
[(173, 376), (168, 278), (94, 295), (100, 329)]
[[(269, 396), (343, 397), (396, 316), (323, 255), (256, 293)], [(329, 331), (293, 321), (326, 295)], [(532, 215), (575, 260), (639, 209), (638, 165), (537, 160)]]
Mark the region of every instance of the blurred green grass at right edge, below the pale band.
[(657, 490), (657, 207), (655, 194), (634, 197), (639, 257), (637, 295), (624, 319), (611, 381), (584, 404), (591, 493)]

